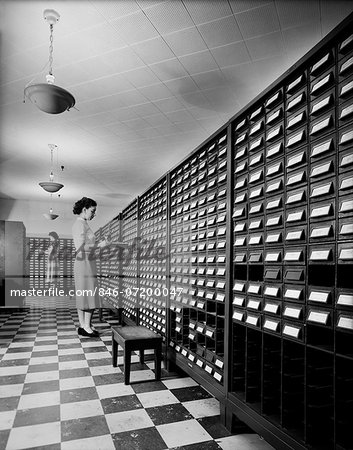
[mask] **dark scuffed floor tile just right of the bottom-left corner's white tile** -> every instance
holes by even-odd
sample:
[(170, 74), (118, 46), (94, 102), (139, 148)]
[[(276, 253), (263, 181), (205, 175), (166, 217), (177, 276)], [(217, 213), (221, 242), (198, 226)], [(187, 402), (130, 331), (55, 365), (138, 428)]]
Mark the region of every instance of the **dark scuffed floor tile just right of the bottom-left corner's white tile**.
[(85, 417), (61, 422), (62, 441), (102, 436), (109, 433), (107, 421), (104, 416)]

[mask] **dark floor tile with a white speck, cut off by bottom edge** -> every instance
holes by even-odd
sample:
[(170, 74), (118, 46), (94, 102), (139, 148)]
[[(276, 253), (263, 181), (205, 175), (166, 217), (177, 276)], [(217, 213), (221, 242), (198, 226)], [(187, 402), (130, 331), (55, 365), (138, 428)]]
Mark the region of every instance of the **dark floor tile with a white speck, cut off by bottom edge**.
[(117, 450), (164, 450), (167, 448), (155, 428), (114, 433), (112, 438)]

